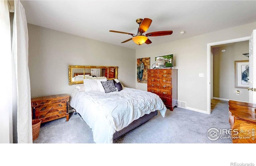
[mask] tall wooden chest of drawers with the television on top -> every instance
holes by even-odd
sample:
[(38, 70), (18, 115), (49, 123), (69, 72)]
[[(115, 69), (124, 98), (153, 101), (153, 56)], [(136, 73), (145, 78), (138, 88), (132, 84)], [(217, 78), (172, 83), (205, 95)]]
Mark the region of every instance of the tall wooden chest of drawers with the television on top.
[(167, 108), (178, 107), (178, 69), (148, 69), (148, 92), (157, 94)]

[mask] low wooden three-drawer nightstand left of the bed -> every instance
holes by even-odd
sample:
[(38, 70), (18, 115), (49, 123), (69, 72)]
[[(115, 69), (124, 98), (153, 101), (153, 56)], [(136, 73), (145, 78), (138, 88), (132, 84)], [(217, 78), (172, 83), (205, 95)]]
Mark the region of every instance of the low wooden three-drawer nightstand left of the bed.
[(41, 119), (41, 123), (62, 117), (66, 117), (68, 121), (69, 98), (68, 94), (31, 98), (32, 118)]

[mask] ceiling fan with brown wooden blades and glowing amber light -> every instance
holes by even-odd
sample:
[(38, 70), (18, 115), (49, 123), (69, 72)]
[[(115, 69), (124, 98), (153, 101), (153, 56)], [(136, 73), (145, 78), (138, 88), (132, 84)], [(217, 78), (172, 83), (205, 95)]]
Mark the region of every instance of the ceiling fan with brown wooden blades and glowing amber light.
[(124, 34), (131, 35), (132, 38), (130, 38), (126, 41), (123, 41), (122, 43), (133, 40), (134, 43), (136, 43), (137, 45), (142, 45), (143, 43), (146, 43), (146, 44), (152, 43), (152, 41), (150, 41), (150, 39), (148, 39), (148, 37), (150, 37), (150, 36), (164, 36), (164, 35), (172, 34), (172, 31), (156, 31), (156, 32), (150, 32), (150, 33), (147, 33), (146, 35), (144, 35), (143, 33), (148, 30), (148, 27), (150, 26), (152, 20), (149, 18), (144, 18), (144, 19), (138, 18), (136, 20), (136, 22), (139, 24), (138, 32), (136, 35), (133, 33), (113, 31), (113, 30), (110, 30), (110, 32), (124, 33)]

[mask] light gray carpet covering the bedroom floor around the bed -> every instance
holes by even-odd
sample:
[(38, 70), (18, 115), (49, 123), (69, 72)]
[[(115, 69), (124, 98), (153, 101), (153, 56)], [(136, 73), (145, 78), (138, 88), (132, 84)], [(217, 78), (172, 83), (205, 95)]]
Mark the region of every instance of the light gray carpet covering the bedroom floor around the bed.
[[(215, 100), (217, 101), (217, 100)], [(92, 130), (77, 114), (42, 123), (38, 139), (33, 143), (94, 143)], [(169, 109), (163, 118), (160, 113), (114, 143), (232, 143), (231, 139), (210, 141), (208, 129), (230, 129), (228, 102), (217, 101), (210, 115), (183, 108)]]

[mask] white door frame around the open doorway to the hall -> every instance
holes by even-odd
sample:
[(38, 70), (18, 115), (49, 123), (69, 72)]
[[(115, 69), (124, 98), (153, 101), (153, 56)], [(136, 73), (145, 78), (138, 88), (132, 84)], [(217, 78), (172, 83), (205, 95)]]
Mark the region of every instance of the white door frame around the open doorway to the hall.
[(218, 41), (218, 42), (214, 42), (214, 43), (208, 43), (207, 44), (207, 82), (206, 82), (206, 86), (207, 86), (207, 114), (211, 114), (211, 67), (212, 67), (212, 60), (211, 60), (211, 46), (214, 45), (221, 45), (221, 44), (228, 44), (228, 43), (235, 43), (235, 42), (239, 42), (239, 41), (246, 41), (249, 40), (250, 36), (247, 37), (241, 37), (241, 38), (237, 38), (237, 39), (230, 39), (230, 40), (225, 40), (225, 41)]

